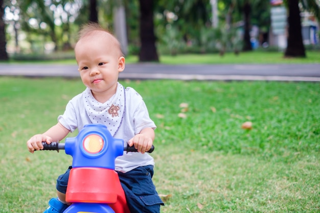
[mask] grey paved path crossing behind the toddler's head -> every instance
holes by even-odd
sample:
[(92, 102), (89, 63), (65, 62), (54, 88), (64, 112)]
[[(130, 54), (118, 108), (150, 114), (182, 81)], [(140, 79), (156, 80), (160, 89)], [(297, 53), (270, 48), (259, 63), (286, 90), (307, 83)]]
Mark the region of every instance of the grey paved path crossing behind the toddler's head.
[[(79, 77), (76, 65), (4, 64), (0, 76)], [(318, 64), (126, 64), (120, 79), (320, 81)]]

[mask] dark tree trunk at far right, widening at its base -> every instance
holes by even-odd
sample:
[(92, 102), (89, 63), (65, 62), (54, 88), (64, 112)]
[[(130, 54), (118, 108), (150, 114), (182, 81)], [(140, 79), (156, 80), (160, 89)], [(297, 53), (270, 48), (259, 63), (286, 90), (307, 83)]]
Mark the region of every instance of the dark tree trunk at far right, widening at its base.
[(305, 46), (303, 45), (301, 32), (301, 17), (299, 0), (288, 1), (288, 39), (285, 57), (306, 57)]

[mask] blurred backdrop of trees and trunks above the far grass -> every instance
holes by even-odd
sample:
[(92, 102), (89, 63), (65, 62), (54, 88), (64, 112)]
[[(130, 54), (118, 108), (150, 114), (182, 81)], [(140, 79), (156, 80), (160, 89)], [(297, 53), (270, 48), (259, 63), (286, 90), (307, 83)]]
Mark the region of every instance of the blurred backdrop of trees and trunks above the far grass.
[(139, 61), (160, 55), (319, 48), (320, 0), (0, 0), (0, 60), (74, 58), (88, 21)]

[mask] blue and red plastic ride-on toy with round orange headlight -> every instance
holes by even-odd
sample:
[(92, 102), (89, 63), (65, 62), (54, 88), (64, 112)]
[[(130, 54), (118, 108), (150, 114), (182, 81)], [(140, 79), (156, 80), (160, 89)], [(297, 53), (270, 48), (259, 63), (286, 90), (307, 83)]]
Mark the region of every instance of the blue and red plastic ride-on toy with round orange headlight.
[[(64, 213), (129, 213), (126, 198), (115, 171), (115, 159), (124, 151), (136, 152), (122, 139), (113, 138), (106, 126), (87, 124), (65, 144), (42, 142), (42, 150), (65, 150), (73, 157)], [(151, 153), (154, 147), (148, 151)]]

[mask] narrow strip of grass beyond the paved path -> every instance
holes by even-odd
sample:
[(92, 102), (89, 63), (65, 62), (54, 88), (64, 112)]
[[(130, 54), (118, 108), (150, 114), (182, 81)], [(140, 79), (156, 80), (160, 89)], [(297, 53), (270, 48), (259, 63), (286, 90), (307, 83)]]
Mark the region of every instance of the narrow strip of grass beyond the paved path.
[[(177, 56), (161, 55), (159, 56), (160, 63), (164, 64), (270, 64), (270, 63), (320, 63), (319, 51), (307, 51), (306, 58), (284, 58), (282, 52), (263, 52), (252, 51), (244, 52), (239, 55), (234, 53), (226, 53), (223, 57), (219, 54), (182, 54)], [(138, 56), (127, 56), (126, 63), (138, 63)], [(13, 61), (10, 63), (62, 63), (62, 64), (76, 64), (74, 59), (61, 60), (24, 60)]]

